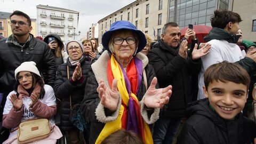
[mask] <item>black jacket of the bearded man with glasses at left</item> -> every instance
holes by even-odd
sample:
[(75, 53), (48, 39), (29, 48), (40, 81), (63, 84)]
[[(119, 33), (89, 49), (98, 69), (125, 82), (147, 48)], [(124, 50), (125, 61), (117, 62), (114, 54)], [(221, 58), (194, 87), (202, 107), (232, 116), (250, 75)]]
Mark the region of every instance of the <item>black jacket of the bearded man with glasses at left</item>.
[(56, 70), (50, 47), (33, 35), (30, 36), (30, 41), (22, 47), (5, 43), (6, 38), (0, 40), (0, 92), (9, 94), (13, 90), (14, 70), (25, 61), (34, 61), (45, 84), (54, 86)]

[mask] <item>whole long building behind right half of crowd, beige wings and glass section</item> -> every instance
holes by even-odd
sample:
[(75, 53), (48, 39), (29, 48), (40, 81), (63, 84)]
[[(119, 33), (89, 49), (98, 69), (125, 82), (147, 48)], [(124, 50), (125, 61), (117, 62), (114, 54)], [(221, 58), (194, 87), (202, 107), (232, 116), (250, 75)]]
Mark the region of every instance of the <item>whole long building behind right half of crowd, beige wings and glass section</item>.
[(111, 23), (117, 20), (132, 22), (156, 41), (161, 38), (162, 28), (167, 22), (177, 22), (180, 29), (188, 24), (211, 26), (214, 10), (226, 9), (241, 15), (240, 27), (246, 34), (243, 38), (255, 42), (255, 6), (255, 0), (138, 0), (98, 21), (99, 41)]

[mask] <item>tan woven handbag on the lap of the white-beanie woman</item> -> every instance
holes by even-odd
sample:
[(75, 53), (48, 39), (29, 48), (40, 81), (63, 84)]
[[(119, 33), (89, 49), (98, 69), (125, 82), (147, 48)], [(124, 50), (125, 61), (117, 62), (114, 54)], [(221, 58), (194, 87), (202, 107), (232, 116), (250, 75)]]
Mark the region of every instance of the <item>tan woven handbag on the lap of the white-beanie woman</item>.
[(51, 125), (46, 118), (29, 119), (19, 125), (18, 143), (28, 143), (47, 138), (51, 133)]

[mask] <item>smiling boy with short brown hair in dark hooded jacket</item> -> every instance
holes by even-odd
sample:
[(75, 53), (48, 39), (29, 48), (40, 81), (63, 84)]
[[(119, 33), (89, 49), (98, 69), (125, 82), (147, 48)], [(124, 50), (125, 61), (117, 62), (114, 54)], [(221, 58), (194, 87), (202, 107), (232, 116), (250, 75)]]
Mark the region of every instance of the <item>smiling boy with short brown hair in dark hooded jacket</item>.
[(254, 143), (255, 124), (241, 113), (250, 84), (246, 70), (223, 61), (206, 69), (204, 83), (206, 99), (190, 103), (177, 143)]

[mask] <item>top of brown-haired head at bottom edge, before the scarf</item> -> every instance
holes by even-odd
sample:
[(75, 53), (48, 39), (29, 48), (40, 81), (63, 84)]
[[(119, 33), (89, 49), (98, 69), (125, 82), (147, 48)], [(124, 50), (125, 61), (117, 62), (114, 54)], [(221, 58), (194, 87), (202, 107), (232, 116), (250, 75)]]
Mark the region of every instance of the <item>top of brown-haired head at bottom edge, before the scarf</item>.
[(125, 130), (118, 130), (108, 135), (108, 137), (101, 142), (101, 144), (143, 144), (142, 139), (137, 133), (127, 132)]

